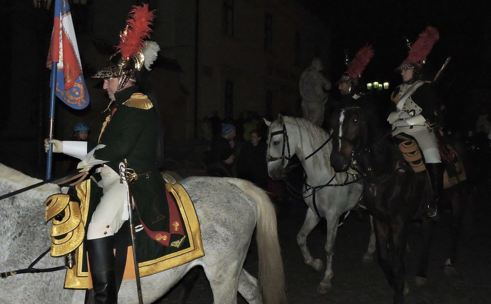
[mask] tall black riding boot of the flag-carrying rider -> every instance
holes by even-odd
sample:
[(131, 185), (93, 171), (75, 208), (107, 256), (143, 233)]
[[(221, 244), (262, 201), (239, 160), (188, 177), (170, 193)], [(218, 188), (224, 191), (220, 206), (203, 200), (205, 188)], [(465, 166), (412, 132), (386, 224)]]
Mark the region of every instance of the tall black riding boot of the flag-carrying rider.
[(117, 303), (114, 236), (86, 241), (96, 304)]

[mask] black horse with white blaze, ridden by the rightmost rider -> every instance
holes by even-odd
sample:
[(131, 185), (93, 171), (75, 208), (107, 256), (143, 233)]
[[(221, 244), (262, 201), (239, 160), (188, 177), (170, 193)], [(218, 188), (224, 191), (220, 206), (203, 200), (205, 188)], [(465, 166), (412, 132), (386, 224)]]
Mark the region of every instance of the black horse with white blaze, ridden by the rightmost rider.
[[(370, 106), (354, 101), (334, 115), (332, 126), (336, 137), (330, 161), (337, 172), (351, 167), (364, 176), (363, 201), (374, 218), (379, 263), (395, 289), (394, 303), (403, 303), (404, 254), (408, 226), (413, 220), (420, 221), (423, 235), (417, 276), (426, 278), (432, 220), (423, 211), (432, 190), (426, 171), (415, 173), (404, 161), (390, 130), (379, 127)], [(455, 206), (448, 266), (456, 257), (461, 222), (460, 202), (454, 199), (452, 204)]]

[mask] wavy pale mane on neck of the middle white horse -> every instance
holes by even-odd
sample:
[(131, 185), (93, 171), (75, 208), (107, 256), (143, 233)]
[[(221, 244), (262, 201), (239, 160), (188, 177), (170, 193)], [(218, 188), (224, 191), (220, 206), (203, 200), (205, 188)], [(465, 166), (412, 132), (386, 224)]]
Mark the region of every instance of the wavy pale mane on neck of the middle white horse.
[[(284, 122), (289, 122), (296, 126), (298, 134), (300, 136), (300, 147), (302, 148), (302, 150), (304, 150), (303, 136), (307, 137), (312, 151), (320, 147), (320, 145), (323, 144), (330, 136), (330, 134), (326, 132), (323, 128), (313, 124), (307, 119), (290, 116), (283, 116), (283, 119)], [(305, 130), (305, 132), (302, 132), (302, 129)], [(329, 161), (330, 145), (332, 144), (328, 142), (320, 150), (322, 151), (322, 153), (316, 153), (311, 157), (314, 168), (322, 168), (322, 166), (324, 166), (325, 168), (331, 168)], [(305, 158), (306, 155), (302, 155), (302, 157)]]

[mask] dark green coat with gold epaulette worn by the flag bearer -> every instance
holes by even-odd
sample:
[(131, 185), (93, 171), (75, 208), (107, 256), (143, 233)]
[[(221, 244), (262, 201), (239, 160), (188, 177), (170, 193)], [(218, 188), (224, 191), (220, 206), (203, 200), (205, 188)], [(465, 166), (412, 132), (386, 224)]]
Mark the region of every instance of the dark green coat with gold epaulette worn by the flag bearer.
[[(156, 240), (169, 245), (169, 209), (164, 180), (157, 168), (157, 118), (146, 95), (132, 86), (114, 94), (116, 107), (100, 137), (106, 146), (94, 153), (94, 158), (109, 161), (105, 165), (119, 174), (124, 159), (139, 175), (130, 186), (136, 208), (147, 232), (167, 235)], [(122, 101), (122, 102), (121, 102)]]

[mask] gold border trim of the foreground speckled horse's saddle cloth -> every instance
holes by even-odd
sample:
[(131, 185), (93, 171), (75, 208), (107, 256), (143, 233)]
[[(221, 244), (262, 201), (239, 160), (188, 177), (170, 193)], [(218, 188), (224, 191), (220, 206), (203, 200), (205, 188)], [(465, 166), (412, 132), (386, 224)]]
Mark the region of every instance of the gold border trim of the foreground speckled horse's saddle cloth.
[[(140, 276), (151, 275), (160, 271), (164, 271), (173, 267), (190, 262), (204, 255), (203, 244), (201, 242), (201, 230), (199, 228), (198, 217), (194, 205), (189, 198), (186, 190), (180, 184), (165, 184), (168, 191), (176, 198), (176, 205), (179, 208), (182, 216), (182, 224), (186, 228), (187, 236), (177, 240), (182, 242), (185, 238), (189, 238), (190, 246), (186, 249), (168, 254), (166, 256), (139, 263)], [(77, 185), (77, 194), (80, 199), (80, 209), (82, 211), (82, 222), (87, 220), (88, 202), (90, 198), (90, 183), (87, 181)], [(175, 242), (173, 242), (175, 243)], [(176, 243), (175, 246), (178, 244)], [(172, 246), (172, 244), (171, 244)], [(83, 243), (75, 251), (76, 267), (67, 269), (65, 277), (65, 288), (86, 289), (91, 288), (89, 273), (82, 271), (82, 256), (79, 252), (83, 252)], [(133, 249), (128, 247), (127, 265), (123, 279), (134, 279), (135, 267), (133, 263)]]

